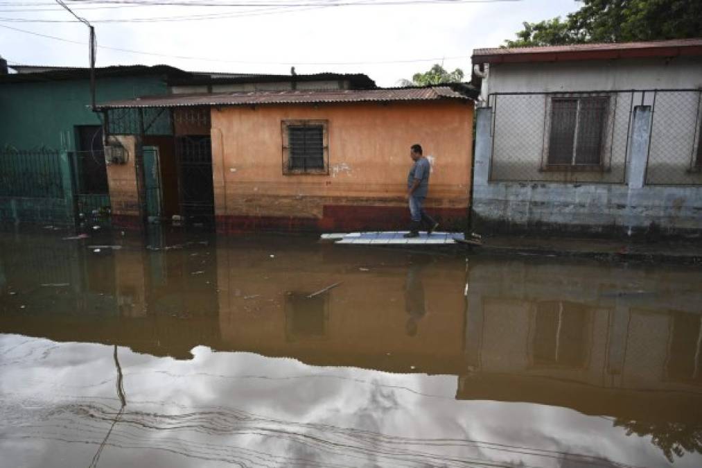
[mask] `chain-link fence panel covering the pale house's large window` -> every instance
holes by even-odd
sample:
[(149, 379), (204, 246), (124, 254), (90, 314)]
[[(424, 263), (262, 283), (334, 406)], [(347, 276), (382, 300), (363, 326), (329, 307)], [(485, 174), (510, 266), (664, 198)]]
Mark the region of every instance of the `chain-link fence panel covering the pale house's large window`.
[(634, 91), (494, 93), (491, 181), (623, 183)]

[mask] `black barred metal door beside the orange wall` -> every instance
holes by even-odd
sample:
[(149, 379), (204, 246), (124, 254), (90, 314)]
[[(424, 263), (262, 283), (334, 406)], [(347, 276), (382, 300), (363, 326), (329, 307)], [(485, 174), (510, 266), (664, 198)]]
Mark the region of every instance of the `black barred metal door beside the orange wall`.
[(214, 219), (212, 143), (209, 136), (180, 136), (176, 145), (180, 170), (180, 209), (186, 222)]

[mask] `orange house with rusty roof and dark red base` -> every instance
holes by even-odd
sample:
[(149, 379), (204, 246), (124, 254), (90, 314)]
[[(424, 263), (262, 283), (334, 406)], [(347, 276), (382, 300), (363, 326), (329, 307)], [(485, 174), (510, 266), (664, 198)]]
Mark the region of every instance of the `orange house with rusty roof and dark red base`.
[[(470, 201), (474, 96), (463, 85), (344, 89), (338, 80), (333, 90), (173, 93), (100, 108), (108, 121), (121, 112), (144, 122), (171, 116), (179, 214), (206, 219), (208, 210), (220, 232), (402, 228), (413, 143), (434, 167), (428, 207), (458, 228)], [(150, 131), (110, 138), (129, 154), (148, 157), (140, 148), (157, 146), (168, 159), (168, 145), (150, 140)], [(132, 175), (140, 164), (137, 157), (108, 168), (113, 217), (125, 224), (144, 217), (139, 187), (148, 183)]]

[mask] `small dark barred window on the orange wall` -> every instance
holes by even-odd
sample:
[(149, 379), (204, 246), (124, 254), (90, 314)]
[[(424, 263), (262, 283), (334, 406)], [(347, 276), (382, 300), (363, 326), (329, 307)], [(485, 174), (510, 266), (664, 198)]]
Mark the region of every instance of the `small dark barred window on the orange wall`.
[(284, 174), (328, 173), (326, 121), (284, 121), (282, 131)]

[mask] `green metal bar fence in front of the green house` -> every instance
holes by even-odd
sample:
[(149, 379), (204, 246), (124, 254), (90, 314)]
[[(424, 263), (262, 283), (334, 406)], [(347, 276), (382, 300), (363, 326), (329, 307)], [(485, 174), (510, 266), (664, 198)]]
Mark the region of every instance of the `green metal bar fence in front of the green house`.
[(63, 198), (55, 150), (0, 150), (0, 197)]

